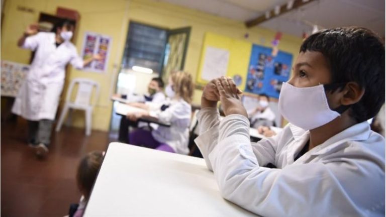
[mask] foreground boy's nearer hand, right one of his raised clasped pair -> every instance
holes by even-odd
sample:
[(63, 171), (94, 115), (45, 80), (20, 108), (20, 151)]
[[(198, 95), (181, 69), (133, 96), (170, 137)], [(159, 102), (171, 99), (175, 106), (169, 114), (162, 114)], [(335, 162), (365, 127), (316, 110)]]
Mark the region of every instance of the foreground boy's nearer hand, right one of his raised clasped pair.
[(216, 81), (216, 86), (220, 93), (224, 114), (226, 116), (238, 114), (248, 118), (247, 111), (239, 96), (240, 92), (235, 91), (235, 82), (231, 78), (221, 77)]

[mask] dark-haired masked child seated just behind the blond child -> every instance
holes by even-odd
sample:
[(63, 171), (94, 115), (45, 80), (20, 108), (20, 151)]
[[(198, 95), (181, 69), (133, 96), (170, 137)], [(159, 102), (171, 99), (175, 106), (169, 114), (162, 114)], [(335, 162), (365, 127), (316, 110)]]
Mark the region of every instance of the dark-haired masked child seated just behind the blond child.
[[(149, 95), (144, 95), (143, 98), (137, 98), (139, 101), (145, 101), (142, 102), (133, 102), (133, 105), (137, 107), (145, 107), (146, 103), (152, 102), (152, 103), (162, 103), (165, 101), (165, 94), (163, 93), (163, 87), (164, 83), (161, 78), (155, 77), (152, 78), (149, 85), (148, 85), (148, 93)], [(122, 95), (116, 95), (119, 97), (122, 97)], [(127, 97), (127, 96), (126, 96)], [(130, 104), (130, 103), (129, 103)], [(142, 106), (143, 104), (143, 106)], [(128, 136), (129, 136), (129, 128), (130, 122), (126, 117), (121, 118), (121, 123), (119, 126), (119, 137), (118, 140), (120, 142), (127, 143), (128, 142)], [(137, 124), (132, 125), (133, 127), (137, 127)]]

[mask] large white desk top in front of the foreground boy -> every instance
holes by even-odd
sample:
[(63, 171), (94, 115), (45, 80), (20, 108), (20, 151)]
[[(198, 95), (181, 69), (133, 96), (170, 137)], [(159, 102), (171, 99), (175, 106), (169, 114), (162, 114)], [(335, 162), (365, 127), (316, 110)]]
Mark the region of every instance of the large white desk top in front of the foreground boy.
[(110, 143), (84, 216), (256, 216), (221, 197), (202, 158)]

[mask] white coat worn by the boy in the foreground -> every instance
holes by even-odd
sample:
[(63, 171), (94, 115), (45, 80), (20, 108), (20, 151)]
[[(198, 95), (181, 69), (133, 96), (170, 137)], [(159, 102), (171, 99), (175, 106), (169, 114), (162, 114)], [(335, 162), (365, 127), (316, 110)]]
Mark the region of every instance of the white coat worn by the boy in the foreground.
[[(384, 138), (356, 124), (297, 161), (309, 131), (288, 124), (251, 143), (249, 121), (204, 108), (200, 148), (222, 196), (262, 216), (384, 216)], [(268, 163), (277, 169), (263, 167)]]

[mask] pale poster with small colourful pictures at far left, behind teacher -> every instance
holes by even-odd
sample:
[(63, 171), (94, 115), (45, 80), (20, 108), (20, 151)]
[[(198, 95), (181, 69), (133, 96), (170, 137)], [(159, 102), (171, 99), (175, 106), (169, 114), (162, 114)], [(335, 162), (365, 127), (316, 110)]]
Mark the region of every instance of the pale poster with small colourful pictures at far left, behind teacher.
[(30, 65), (1, 61), (1, 95), (16, 97), (22, 86)]

